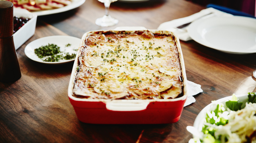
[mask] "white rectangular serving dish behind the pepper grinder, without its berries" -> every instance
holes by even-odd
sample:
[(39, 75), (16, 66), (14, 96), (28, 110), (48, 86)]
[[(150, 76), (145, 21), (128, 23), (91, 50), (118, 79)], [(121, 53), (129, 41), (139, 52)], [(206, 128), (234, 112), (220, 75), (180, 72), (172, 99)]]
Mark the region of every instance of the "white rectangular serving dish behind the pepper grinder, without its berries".
[(26, 9), (14, 8), (13, 16), (30, 18), (26, 24), (13, 34), (14, 46), (15, 50), (17, 50), (34, 35), (37, 15), (32, 14)]

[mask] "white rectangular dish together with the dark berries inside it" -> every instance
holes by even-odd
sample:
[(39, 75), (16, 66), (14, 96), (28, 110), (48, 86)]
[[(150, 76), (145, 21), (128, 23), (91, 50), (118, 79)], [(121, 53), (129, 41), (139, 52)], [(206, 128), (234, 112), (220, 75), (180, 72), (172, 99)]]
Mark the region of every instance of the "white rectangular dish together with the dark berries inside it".
[(29, 40), (35, 33), (37, 15), (26, 9), (13, 10), (13, 41), (15, 49)]

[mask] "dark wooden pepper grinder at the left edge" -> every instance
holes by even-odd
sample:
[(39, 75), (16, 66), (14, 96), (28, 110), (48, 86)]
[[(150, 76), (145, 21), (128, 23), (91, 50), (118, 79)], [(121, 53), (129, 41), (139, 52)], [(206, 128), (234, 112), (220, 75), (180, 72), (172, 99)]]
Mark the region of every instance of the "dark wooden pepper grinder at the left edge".
[(0, 82), (13, 82), (21, 77), (13, 42), (13, 4), (0, 0)]

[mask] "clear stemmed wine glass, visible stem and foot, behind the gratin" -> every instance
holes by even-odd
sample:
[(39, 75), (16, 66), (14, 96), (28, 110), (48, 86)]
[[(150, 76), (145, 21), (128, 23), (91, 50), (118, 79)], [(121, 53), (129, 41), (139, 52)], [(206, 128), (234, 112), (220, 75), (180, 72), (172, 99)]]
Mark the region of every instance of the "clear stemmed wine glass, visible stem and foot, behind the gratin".
[(114, 26), (118, 23), (118, 20), (111, 17), (109, 13), (110, 3), (115, 2), (117, 0), (98, 0), (99, 2), (104, 3), (105, 6), (105, 15), (96, 19), (95, 23), (102, 27)]

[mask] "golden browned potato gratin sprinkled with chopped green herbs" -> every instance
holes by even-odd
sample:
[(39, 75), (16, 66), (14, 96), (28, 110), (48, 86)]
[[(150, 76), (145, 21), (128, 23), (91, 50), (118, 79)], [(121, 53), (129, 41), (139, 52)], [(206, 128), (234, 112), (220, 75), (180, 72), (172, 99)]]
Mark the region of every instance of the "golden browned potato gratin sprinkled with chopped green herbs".
[[(116, 33), (114, 33), (116, 32)], [(173, 35), (97, 31), (80, 47), (73, 96), (88, 99), (171, 99), (183, 95)]]

